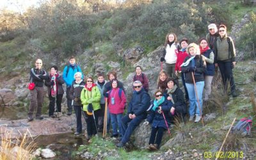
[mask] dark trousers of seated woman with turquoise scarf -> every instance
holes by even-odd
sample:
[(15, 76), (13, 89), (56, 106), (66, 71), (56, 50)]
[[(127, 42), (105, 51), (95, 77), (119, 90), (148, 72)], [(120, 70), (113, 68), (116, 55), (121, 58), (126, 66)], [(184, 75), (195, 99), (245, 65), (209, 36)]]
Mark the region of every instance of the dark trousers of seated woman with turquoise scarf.
[[(163, 127), (152, 127), (150, 139), (148, 144), (157, 144), (158, 148), (163, 138), (164, 131)], [(156, 135), (157, 133), (157, 135)], [(156, 141), (155, 141), (156, 140)]]

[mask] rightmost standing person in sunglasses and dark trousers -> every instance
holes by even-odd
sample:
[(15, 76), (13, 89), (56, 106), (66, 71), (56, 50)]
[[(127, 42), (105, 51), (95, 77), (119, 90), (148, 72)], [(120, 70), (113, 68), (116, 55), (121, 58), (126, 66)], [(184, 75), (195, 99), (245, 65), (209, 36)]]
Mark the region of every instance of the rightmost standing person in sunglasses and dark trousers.
[(227, 36), (227, 27), (220, 25), (220, 37), (217, 38), (214, 46), (214, 63), (220, 68), (224, 90), (227, 92), (228, 81), (230, 83), (230, 94), (237, 97), (236, 84), (233, 77), (233, 68), (236, 66), (236, 49), (230, 36)]

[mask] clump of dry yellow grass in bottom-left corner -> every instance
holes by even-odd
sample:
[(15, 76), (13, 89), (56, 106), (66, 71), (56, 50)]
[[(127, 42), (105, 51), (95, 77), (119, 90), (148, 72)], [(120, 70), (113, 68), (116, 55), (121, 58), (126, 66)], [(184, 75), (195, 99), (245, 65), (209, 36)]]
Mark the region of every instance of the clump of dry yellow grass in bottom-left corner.
[(12, 139), (12, 131), (1, 130), (1, 146), (0, 146), (0, 159), (1, 160), (27, 160), (32, 159), (31, 151), (35, 148), (33, 141), (28, 143), (28, 135), (31, 136), (30, 132), (27, 131), (22, 135), (22, 138)]

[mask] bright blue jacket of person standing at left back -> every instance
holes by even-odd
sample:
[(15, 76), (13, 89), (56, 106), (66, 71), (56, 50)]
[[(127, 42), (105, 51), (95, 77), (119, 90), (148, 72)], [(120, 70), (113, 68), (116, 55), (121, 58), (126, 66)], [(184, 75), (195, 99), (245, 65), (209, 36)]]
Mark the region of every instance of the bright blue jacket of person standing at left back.
[[(67, 69), (68, 69), (68, 73), (67, 73)], [(63, 79), (65, 81), (65, 83), (67, 84), (67, 87), (71, 86), (72, 82), (75, 80), (74, 75), (76, 74), (76, 72), (82, 72), (81, 68), (78, 65), (69, 65), (64, 67), (63, 70)], [(82, 75), (82, 79), (83, 79), (83, 75)]]

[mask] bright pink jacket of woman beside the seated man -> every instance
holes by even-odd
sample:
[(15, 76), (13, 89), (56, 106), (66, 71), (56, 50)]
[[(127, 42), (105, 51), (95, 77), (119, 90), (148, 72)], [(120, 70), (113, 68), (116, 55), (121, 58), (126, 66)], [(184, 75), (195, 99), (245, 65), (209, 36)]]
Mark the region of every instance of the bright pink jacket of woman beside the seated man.
[[(109, 113), (112, 113), (112, 114), (124, 113), (126, 97), (123, 90), (120, 97), (119, 90), (120, 90), (119, 88), (112, 88), (112, 90), (109, 91), (110, 93), (108, 92)], [(115, 99), (114, 104), (112, 104), (112, 99)]]

